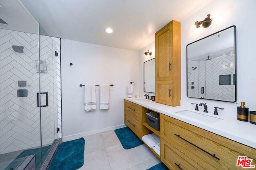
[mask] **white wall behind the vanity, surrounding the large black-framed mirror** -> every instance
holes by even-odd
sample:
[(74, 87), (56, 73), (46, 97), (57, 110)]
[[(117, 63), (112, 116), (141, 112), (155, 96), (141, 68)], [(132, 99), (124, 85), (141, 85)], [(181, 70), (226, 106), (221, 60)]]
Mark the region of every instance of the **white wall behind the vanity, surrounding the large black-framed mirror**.
[[(256, 23), (254, 21), (255, 0), (213, 0), (209, 5), (181, 22), (181, 105), (194, 108), (192, 103), (207, 103), (209, 113), (214, 113), (213, 107), (224, 107), (219, 114), (236, 117), (236, 107), (240, 104), (213, 100), (194, 99), (186, 96), (186, 45), (212, 33), (236, 25), (236, 57), (237, 57), (237, 102), (246, 102), (246, 107), (256, 110), (255, 103), (255, 63), (256, 53)], [(194, 28), (195, 21), (204, 20), (207, 14), (213, 15), (212, 25), (208, 28)], [(175, 18), (174, 18), (175, 20)], [(151, 45), (149, 46), (151, 47)], [(142, 49), (139, 54), (145, 52)], [(154, 54), (153, 54), (154, 55)], [(143, 87), (143, 63), (140, 62), (140, 87)], [(140, 88), (140, 89), (141, 89)], [(143, 92), (143, 89), (142, 91)], [(199, 108), (202, 110), (203, 108)]]

